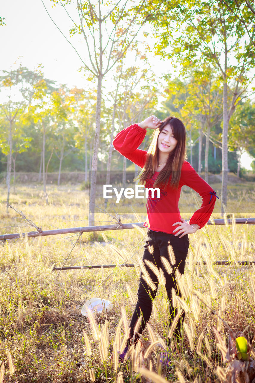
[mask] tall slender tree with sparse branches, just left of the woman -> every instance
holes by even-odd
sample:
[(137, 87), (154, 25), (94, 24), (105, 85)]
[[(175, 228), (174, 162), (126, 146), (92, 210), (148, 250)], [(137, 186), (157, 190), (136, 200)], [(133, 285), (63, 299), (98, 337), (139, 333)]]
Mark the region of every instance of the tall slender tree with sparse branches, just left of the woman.
[[(70, 0), (53, 1), (65, 7), (70, 4)], [(86, 54), (81, 54), (80, 57), (88, 57), (87, 61), (83, 60), (84, 68), (97, 80), (96, 124), (90, 187), (90, 225), (93, 224), (95, 215), (102, 81), (118, 61), (126, 56), (142, 25), (149, 20), (151, 13), (155, 13), (160, 8), (162, 3), (141, 0), (138, 5), (134, 6), (130, 0), (117, 3), (113, 1), (77, 0), (79, 21), (73, 21), (74, 27), (70, 33), (71, 35), (80, 34), (84, 38)]]

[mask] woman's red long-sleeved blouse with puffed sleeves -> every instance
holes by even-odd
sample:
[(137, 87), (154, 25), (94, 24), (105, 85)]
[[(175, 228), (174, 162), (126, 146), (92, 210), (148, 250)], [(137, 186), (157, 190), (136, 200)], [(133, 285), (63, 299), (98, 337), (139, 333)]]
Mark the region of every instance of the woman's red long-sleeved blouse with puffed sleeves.
[[(133, 124), (117, 134), (113, 140), (114, 148), (140, 167), (143, 167), (146, 160), (147, 152), (137, 149), (142, 143), (146, 134), (146, 130), (139, 125)], [(153, 187), (153, 183), (159, 172), (155, 172), (151, 179), (145, 182), (145, 188)], [(162, 231), (173, 234), (173, 230), (177, 226), (172, 226), (173, 223), (180, 221), (181, 215), (178, 207), (181, 188), (187, 185), (202, 198), (201, 207), (195, 211), (190, 219), (190, 224), (198, 224), (203, 226), (208, 222), (214, 204), (216, 201), (215, 191), (201, 178), (193, 169), (189, 162), (184, 161), (181, 168), (181, 177), (178, 188), (168, 186), (165, 190), (160, 188), (160, 198), (157, 198), (157, 192), (152, 198), (151, 192), (146, 200), (147, 219), (144, 227), (154, 231)]]

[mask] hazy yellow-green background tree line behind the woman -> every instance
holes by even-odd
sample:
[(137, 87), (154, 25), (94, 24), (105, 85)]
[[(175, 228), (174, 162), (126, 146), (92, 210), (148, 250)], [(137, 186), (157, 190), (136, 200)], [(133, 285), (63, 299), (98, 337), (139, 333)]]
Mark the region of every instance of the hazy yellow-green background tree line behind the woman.
[[(13, 73), (16, 71), (24, 77), (29, 74), (36, 78), (36, 71), (24, 67)], [(162, 119), (173, 114), (185, 121), (188, 160), (196, 170), (221, 171), (222, 95), (217, 82), (213, 83), (209, 77), (212, 72), (206, 73), (205, 80), (198, 78), (198, 70), (191, 72), (189, 82), (169, 80), (163, 93), (156, 85), (151, 87), (152, 77), (146, 79), (143, 72), (136, 67), (127, 68), (125, 73), (116, 72), (112, 84), (118, 87), (103, 97), (98, 149), (100, 170), (107, 169), (113, 136), (128, 124), (157, 113)], [(7, 72), (5, 77), (10, 75)], [(8, 116), (16, 113), (11, 126), (11, 170), (14, 178), (15, 172), (38, 172), (40, 181), (47, 167), (49, 172), (59, 173), (58, 184), (61, 171), (85, 172), (87, 182), (92, 163), (96, 90), (57, 87), (54, 81), (44, 79), (43, 74), (40, 76), (31, 90), (34, 92), (31, 102), (23, 105), (25, 110), (21, 110), (22, 100), (1, 104), (0, 171), (7, 172), (10, 154)], [(141, 77), (143, 85), (139, 84)], [(134, 87), (135, 90), (132, 89)], [(157, 109), (158, 99), (162, 96), (164, 101)], [(206, 112), (206, 108), (211, 114)], [(240, 155), (244, 151), (254, 155), (254, 112), (254, 103), (246, 100), (238, 105), (230, 120), (228, 166), (231, 171), (240, 170)], [(112, 170), (122, 167), (117, 156), (109, 165)]]

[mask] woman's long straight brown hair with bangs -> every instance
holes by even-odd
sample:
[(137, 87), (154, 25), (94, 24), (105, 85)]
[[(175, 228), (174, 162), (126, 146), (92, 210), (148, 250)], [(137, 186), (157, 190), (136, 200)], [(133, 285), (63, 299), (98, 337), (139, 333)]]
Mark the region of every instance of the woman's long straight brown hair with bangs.
[(144, 184), (147, 178), (152, 178), (155, 172), (154, 169), (157, 169), (158, 167), (158, 137), (163, 127), (168, 124), (171, 126), (173, 135), (177, 140), (177, 146), (169, 154), (164, 169), (160, 171), (157, 179), (154, 182), (153, 187), (155, 188), (157, 186), (160, 186), (163, 189), (166, 189), (167, 185), (170, 185), (173, 188), (178, 188), (181, 177), (181, 167), (183, 161), (186, 158), (186, 130), (182, 121), (176, 117), (167, 117), (163, 119), (159, 129), (154, 130), (152, 135), (152, 142), (149, 146), (146, 155), (144, 167), (141, 170), (141, 173), (138, 175), (138, 177), (135, 178), (135, 180), (138, 180), (140, 184)]

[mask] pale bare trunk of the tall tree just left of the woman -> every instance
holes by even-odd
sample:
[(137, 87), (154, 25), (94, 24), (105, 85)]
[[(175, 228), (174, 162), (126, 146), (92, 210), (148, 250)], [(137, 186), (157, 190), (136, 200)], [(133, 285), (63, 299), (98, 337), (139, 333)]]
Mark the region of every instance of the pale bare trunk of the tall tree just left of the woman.
[(102, 95), (102, 79), (103, 75), (98, 75), (97, 83), (97, 97), (96, 97), (96, 129), (94, 136), (94, 147), (92, 157), (92, 174), (90, 183), (90, 213), (89, 213), (89, 226), (94, 225), (95, 221), (95, 200), (96, 200), (96, 172), (98, 163), (98, 147), (99, 147), (99, 134), (100, 134), (100, 116), (101, 116), (101, 95)]

